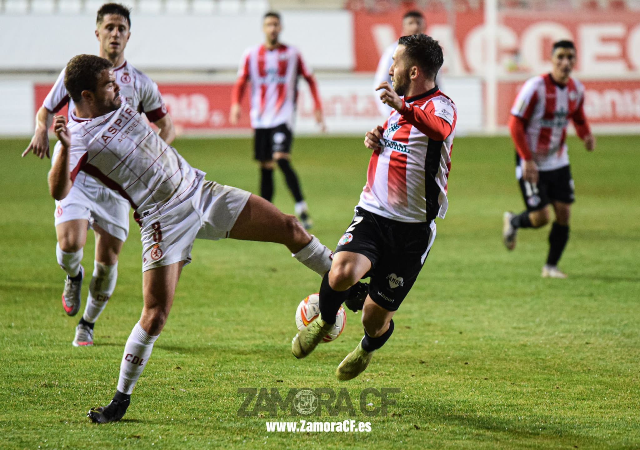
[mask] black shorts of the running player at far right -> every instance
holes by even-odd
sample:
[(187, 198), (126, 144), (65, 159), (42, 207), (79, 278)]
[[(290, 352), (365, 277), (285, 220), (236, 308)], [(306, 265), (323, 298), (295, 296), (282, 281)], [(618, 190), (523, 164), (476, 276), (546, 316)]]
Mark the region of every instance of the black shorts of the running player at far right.
[(540, 170), (538, 183), (518, 180), (527, 211), (538, 211), (551, 202), (573, 203), (573, 179), (569, 166), (556, 170)]

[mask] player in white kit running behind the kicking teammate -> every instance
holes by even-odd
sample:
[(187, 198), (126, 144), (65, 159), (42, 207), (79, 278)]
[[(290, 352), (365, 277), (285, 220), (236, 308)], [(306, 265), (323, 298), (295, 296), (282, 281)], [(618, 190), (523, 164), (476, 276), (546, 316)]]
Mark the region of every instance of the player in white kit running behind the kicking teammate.
[[(100, 43), (99, 54), (113, 63), (120, 95), (136, 111), (144, 112), (147, 119), (159, 128), (159, 136), (171, 143), (175, 131), (157, 84), (125, 60), (124, 50), (131, 36), (130, 29), (128, 8), (116, 3), (102, 5), (97, 12), (95, 31)], [(68, 126), (82, 122), (73, 115), (74, 102), (69, 98), (64, 78), (63, 69), (38, 110), (35, 136), (24, 154), (33, 150), (41, 158), (45, 154), (49, 156), (47, 131), (54, 113), (65, 104), (68, 104)], [(129, 233), (129, 209), (129, 202), (120, 194), (86, 173), (76, 180), (67, 197), (56, 202), (56, 256), (58, 264), (67, 273), (62, 305), (69, 316), (75, 316), (81, 306), (84, 277), (81, 261), (88, 227), (95, 232), (93, 275), (84, 313), (76, 326), (74, 346), (93, 345), (93, 326), (115, 289), (118, 255)]]

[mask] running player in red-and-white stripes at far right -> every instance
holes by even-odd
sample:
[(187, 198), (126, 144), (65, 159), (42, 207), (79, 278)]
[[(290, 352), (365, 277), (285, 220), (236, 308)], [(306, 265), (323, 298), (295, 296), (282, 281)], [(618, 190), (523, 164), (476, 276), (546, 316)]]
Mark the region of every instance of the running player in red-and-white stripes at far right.
[(573, 42), (556, 42), (551, 61), (552, 72), (529, 79), (511, 108), (509, 129), (516, 147), (516, 178), (527, 209), (520, 214), (504, 213), (502, 238), (506, 248), (513, 250), (518, 229), (547, 225), (548, 205), (552, 204), (556, 221), (549, 233), (542, 276), (566, 278), (557, 263), (569, 239), (574, 200), (565, 142), (569, 119), (589, 152), (595, 149), (595, 138), (584, 115), (584, 86), (571, 76), (575, 65)]

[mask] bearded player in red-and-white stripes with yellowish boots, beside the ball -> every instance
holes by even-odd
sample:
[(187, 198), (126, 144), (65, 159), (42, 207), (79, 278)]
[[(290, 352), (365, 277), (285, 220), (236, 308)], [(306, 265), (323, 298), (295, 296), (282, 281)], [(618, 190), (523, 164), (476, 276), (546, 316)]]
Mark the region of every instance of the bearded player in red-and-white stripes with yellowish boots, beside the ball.
[[(392, 317), (409, 293), (435, 239), (435, 218), (447, 211), (447, 177), (456, 106), (435, 84), (442, 48), (429, 36), (403, 36), (389, 70), (393, 89), (380, 98), (393, 108), (382, 127), (365, 136), (373, 150), (367, 184), (351, 225), (338, 242), (320, 286), (320, 317), (298, 333), (291, 350), (306, 357), (335, 323), (349, 288), (371, 274), (362, 309), (364, 337), (337, 368), (339, 380), (362, 373), (394, 331)], [(401, 98), (400, 96), (404, 96)]]

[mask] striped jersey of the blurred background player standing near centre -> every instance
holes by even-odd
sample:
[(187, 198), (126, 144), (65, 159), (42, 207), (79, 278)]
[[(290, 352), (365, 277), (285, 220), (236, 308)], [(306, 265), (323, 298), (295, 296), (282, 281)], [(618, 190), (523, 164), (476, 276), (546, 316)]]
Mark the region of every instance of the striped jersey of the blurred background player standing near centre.
[(316, 80), (296, 47), (284, 44), (271, 50), (264, 45), (250, 47), (244, 52), (231, 102), (239, 103), (246, 83), (251, 83), (252, 128), (282, 124), (292, 128), (299, 76), (307, 80), (316, 109), (320, 109)]

